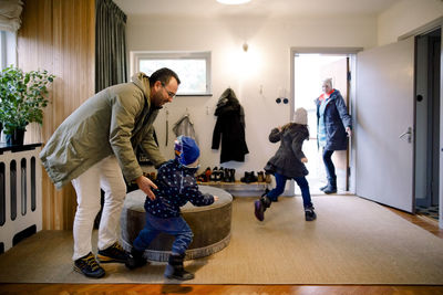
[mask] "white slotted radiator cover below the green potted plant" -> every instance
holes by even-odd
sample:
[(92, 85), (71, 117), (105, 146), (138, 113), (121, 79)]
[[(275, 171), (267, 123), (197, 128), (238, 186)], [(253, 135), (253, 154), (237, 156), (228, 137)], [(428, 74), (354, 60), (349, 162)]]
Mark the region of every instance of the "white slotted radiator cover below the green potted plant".
[(0, 151), (0, 253), (42, 229), (41, 148), (23, 149)]

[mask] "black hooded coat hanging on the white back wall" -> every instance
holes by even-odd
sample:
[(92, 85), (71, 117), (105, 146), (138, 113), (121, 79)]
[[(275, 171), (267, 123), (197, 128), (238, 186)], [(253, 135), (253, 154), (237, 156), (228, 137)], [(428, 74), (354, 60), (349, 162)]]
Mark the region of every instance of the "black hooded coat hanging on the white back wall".
[(217, 123), (212, 148), (218, 149), (222, 137), (220, 164), (245, 161), (245, 155), (249, 152), (245, 140), (245, 113), (231, 88), (222, 94), (215, 115)]

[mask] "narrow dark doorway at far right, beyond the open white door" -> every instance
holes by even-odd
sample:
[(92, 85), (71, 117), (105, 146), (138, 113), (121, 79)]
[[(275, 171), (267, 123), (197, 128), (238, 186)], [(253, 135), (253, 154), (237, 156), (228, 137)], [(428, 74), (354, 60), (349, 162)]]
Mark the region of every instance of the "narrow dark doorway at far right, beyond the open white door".
[(415, 213), (439, 220), (441, 29), (416, 36)]

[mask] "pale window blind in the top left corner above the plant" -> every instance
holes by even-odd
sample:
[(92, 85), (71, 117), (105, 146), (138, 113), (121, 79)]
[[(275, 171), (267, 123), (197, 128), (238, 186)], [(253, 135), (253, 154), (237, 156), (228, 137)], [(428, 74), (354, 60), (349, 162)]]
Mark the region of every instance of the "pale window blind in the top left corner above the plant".
[(0, 31), (17, 32), (20, 29), (21, 0), (0, 0)]

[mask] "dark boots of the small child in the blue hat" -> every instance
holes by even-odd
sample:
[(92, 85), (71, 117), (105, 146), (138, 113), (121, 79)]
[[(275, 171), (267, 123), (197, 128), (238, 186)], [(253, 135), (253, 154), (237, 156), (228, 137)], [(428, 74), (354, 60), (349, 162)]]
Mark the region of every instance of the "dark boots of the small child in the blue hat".
[[(185, 260), (184, 253), (181, 255), (171, 254), (164, 275), (167, 278), (176, 278), (179, 281), (193, 280), (194, 274), (186, 272), (183, 266), (184, 260)], [(131, 250), (130, 257), (127, 259), (125, 265), (127, 268), (134, 270), (137, 267), (142, 267), (146, 263), (147, 263), (146, 260), (143, 257), (143, 251), (138, 251), (135, 247), (133, 247)]]

